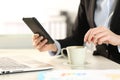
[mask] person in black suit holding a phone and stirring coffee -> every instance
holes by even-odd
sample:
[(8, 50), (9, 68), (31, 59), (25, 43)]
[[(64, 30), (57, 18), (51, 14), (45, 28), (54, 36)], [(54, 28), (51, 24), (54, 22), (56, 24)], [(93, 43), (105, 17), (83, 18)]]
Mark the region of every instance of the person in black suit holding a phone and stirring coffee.
[(46, 44), (47, 39), (33, 35), (33, 45), (39, 51), (59, 54), (60, 49), (71, 45), (94, 43), (94, 55), (102, 55), (120, 63), (120, 1), (81, 0), (73, 34), (55, 44)]

